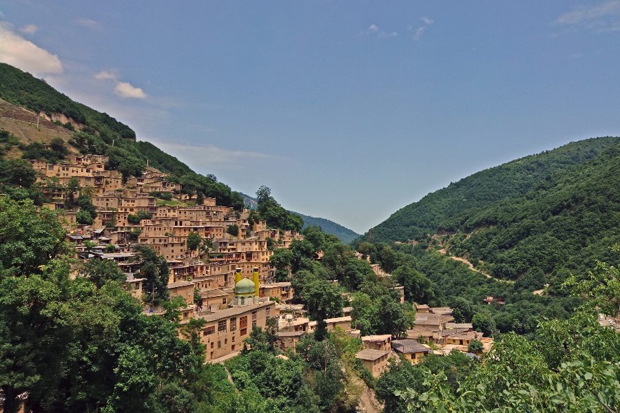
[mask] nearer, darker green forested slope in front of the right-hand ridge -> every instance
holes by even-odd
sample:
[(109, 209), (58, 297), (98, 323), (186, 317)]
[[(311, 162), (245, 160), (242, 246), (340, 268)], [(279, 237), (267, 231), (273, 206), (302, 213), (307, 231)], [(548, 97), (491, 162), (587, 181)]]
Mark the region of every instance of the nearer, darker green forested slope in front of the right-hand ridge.
[(595, 260), (616, 264), (608, 246), (620, 240), (620, 145), (462, 217), (448, 251), (495, 277), (550, 275), (554, 284)]

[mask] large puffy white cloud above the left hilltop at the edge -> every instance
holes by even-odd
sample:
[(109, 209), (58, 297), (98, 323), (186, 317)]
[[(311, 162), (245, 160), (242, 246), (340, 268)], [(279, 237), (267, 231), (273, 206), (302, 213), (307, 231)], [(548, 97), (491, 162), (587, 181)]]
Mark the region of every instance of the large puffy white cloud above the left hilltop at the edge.
[(35, 76), (63, 72), (63, 65), (56, 54), (23, 39), (12, 31), (12, 25), (8, 23), (0, 23), (0, 61)]

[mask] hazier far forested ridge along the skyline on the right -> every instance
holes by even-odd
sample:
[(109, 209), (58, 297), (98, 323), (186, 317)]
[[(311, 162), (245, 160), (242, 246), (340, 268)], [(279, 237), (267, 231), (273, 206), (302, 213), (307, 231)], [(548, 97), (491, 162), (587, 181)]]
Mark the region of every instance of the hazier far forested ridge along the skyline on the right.
[(362, 240), (418, 240), (427, 233), (455, 231), (480, 209), (499, 200), (518, 198), (553, 173), (581, 165), (619, 142), (617, 137), (581, 140), (474, 173), (396, 211)]

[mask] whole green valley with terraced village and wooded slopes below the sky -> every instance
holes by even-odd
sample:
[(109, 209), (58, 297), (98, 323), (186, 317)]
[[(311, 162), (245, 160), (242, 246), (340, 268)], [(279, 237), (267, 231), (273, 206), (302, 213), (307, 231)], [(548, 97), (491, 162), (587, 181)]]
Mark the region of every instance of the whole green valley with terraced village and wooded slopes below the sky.
[(0, 98), (1, 411), (617, 410), (620, 138), (358, 235), (6, 63)]

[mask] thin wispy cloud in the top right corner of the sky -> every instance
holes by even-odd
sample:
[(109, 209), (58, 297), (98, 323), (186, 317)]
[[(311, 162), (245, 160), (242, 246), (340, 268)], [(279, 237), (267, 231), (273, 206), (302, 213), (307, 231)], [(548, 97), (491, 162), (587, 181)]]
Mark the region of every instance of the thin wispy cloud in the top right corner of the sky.
[(595, 6), (575, 8), (561, 14), (555, 23), (565, 27), (616, 32), (620, 30), (620, 0), (606, 1)]

